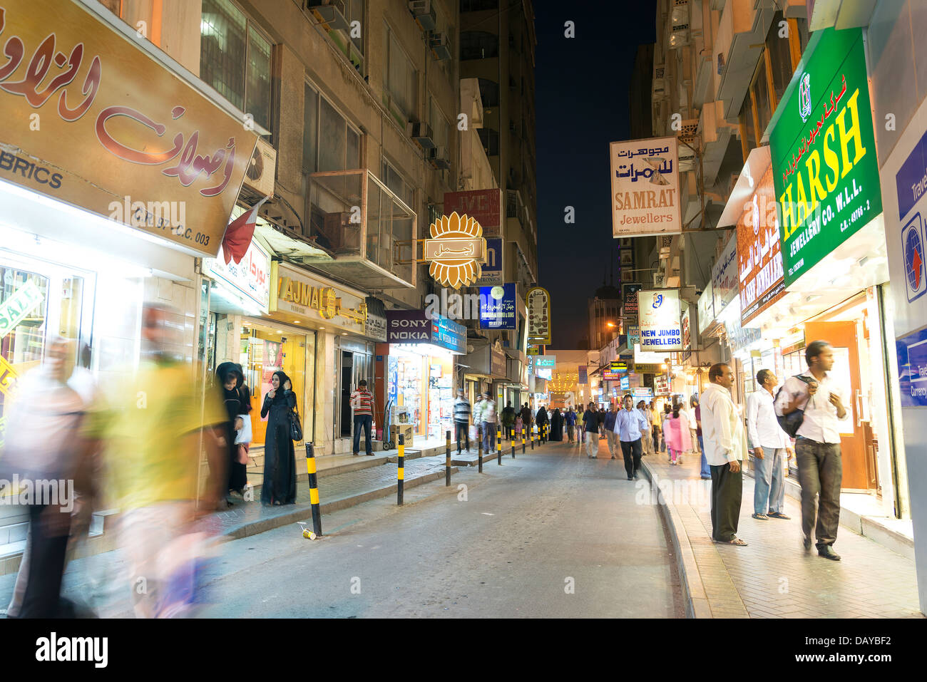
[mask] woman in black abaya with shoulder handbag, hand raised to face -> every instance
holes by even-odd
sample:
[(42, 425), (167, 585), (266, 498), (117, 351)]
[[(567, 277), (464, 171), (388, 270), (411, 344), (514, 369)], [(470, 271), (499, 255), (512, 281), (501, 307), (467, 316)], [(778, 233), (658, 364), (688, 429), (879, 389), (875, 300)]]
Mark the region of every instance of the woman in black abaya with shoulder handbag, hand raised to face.
[(261, 418), (267, 417), (264, 439), (264, 485), (260, 488), (261, 504), (296, 503), (296, 452), (290, 438), (290, 410), (296, 407), (289, 377), (274, 372), (271, 390), (260, 408)]

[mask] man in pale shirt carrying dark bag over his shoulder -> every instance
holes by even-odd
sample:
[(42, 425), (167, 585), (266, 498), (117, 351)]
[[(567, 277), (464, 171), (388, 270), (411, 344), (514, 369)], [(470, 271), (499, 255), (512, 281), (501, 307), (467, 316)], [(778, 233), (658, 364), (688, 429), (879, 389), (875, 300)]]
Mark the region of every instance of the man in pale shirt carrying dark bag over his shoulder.
[(833, 348), (827, 341), (808, 344), (805, 360), (808, 373), (786, 380), (776, 400), (776, 413), (784, 416), (795, 410), (805, 410), (795, 434), (798, 482), (802, 486), (803, 542), (806, 551), (810, 550), (811, 529), (817, 516), (818, 554), (839, 562), (840, 555), (832, 545), (840, 524), (840, 485), (844, 477), (838, 424), (846, 417), (844, 389), (829, 374), (833, 367)]

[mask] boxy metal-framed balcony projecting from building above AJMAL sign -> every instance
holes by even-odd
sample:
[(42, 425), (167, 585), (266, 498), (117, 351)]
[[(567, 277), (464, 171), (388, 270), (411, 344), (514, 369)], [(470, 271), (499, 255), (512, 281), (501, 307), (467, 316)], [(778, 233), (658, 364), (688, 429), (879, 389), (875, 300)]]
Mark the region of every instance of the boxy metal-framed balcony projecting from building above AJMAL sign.
[(413, 287), (417, 216), (366, 169), (311, 174), (311, 203), (324, 220), (317, 240), (334, 261), (316, 267), (361, 287)]

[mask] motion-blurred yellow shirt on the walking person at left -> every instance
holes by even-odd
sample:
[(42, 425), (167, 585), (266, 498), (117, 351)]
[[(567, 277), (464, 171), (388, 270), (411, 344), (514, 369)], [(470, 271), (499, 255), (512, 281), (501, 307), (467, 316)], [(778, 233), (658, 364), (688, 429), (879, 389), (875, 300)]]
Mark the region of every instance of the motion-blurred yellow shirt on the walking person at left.
[(202, 391), (189, 365), (145, 360), (103, 401), (88, 431), (105, 441), (121, 508), (195, 499), (199, 432), (228, 421), (218, 388)]

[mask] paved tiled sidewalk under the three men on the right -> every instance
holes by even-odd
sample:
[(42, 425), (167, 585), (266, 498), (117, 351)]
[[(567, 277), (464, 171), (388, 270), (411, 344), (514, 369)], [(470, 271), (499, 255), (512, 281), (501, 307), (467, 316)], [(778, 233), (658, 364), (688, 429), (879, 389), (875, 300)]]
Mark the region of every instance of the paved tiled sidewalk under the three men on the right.
[[(790, 521), (757, 521), (753, 479), (743, 477), (737, 535), (748, 547), (711, 540), (711, 481), (699, 478), (700, 458), (689, 455), (670, 466), (667, 455), (642, 459), (651, 480), (674, 483), (664, 507), (676, 534), (679, 573), (690, 600), (689, 614), (706, 618), (904, 618), (922, 617), (914, 562), (868, 537), (840, 528), (831, 562), (801, 547), (801, 510), (786, 496)], [(665, 486), (667, 484), (664, 484)], [(685, 494), (680, 495), (684, 490)]]

